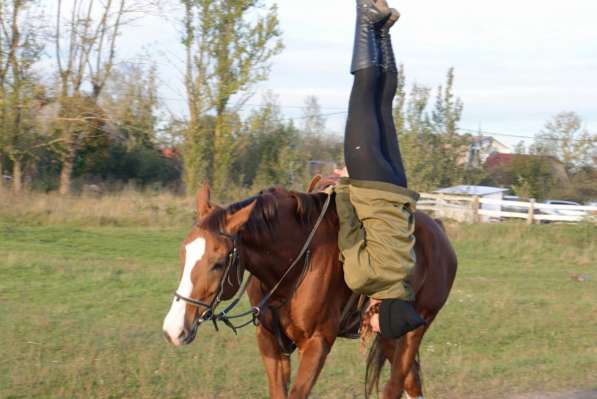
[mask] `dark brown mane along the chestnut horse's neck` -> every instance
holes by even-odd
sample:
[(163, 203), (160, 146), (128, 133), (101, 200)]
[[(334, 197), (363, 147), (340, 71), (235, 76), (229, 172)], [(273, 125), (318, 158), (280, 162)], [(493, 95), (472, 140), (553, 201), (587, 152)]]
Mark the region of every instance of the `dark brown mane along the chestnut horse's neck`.
[(255, 201), (255, 208), (243, 226), (243, 233), (256, 239), (271, 239), (280, 222), (278, 218), (280, 202), (288, 197), (295, 201), (293, 212), (295, 220), (301, 225), (310, 226), (319, 217), (326, 194), (308, 194), (288, 191), (282, 187), (272, 187), (253, 197), (228, 205), (226, 208), (217, 208), (200, 222), (199, 227), (212, 232), (222, 232), (226, 227), (228, 216)]

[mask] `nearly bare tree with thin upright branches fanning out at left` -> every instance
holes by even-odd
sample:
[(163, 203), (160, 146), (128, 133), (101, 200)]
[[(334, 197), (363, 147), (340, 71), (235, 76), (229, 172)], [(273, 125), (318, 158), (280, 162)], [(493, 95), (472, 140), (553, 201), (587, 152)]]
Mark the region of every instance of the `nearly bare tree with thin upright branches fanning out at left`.
[[(71, 191), (77, 153), (86, 140), (101, 134), (97, 101), (110, 78), (123, 27), (152, 5), (140, 0), (57, 0), (55, 57), (60, 77), (61, 194)], [(69, 16), (65, 17), (65, 13)]]

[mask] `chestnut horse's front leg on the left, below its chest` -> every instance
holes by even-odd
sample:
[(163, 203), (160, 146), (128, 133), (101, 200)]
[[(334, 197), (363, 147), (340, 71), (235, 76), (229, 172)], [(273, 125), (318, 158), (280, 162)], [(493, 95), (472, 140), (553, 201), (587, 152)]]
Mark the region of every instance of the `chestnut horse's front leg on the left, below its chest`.
[(267, 372), (270, 398), (286, 399), (290, 383), (290, 357), (282, 354), (274, 335), (262, 326), (257, 327), (257, 344)]

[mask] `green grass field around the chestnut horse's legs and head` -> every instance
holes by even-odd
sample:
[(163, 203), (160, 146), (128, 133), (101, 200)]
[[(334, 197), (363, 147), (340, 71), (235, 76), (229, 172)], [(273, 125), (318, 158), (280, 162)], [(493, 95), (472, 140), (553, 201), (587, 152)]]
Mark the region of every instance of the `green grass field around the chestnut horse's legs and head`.
[[(0, 222), (0, 397), (267, 397), (250, 328), (162, 339), (185, 233)], [(422, 346), (428, 397), (594, 388), (597, 227), (450, 235), (460, 269)], [(362, 397), (363, 375), (358, 342), (339, 341), (314, 397)]]

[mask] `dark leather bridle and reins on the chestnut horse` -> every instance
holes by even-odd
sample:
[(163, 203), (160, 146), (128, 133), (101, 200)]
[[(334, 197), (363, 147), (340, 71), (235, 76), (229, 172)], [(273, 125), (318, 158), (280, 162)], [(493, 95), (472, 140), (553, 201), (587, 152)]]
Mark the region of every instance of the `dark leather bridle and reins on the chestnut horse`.
[[(229, 315), (229, 313), (239, 304), (239, 302), (242, 299), (242, 296), (244, 295), (244, 293), (246, 292), (249, 282), (253, 276), (251, 274), (249, 274), (249, 277), (247, 279), (244, 279), (245, 269), (244, 269), (244, 265), (243, 265), (241, 257), (240, 257), (240, 252), (238, 250), (238, 244), (240, 241), (239, 234), (237, 233), (234, 236), (231, 236), (229, 234), (220, 232), (219, 233), (220, 236), (223, 236), (232, 242), (232, 249), (228, 252), (228, 255), (227, 255), (228, 260), (226, 262), (226, 267), (224, 269), (224, 273), (222, 274), (222, 277), (220, 278), (220, 282), (218, 284), (218, 291), (217, 291), (216, 295), (214, 296), (214, 298), (212, 299), (211, 303), (207, 304), (205, 302), (201, 302), (196, 299), (187, 298), (183, 295), (180, 295), (178, 292), (174, 293), (174, 297), (175, 297), (176, 301), (184, 301), (188, 305), (194, 306), (199, 309), (205, 309), (193, 321), (191, 333), (189, 334), (188, 338), (190, 338), (190, 339), (194, 338), (195, 333), (197, 332), (197, 329), (199, 328), (199, 326), (207, 321), (211, 321), (213, 323), (216, 331), (219, 331), (218, 322), (221, 321), (227, 327), (229, 327), (235, 334), (237, 333), (237, 331), (239, 329), (246, 327), (248, 325), (251, 325), (251, 324), (253, 324), (255, 326), (258, 325), (259, 324), (259, 315), (261, 315), (263, 310), (268, 306), (268, 302), (271, 299), (271, 297), (278, 290), (278, 288), (280, 288), (280, 285), (286, 279), (286, 277), (290, 274), (290, 272), (299, 264), (299, 261), (304, 258), (303, 270), (302, 270), (301, 275), (297, 281), (297, 284), (295, 285), (294, 290), (291, 294), (291, 296), (292, 296), (294, 294), (294, 292), (296, 291), (296, 289), (299, 287), (300, 283), (302, 282), (302, 280), (309, 268), (310, 259), (311, 259), (310, 246), (311, 246), (311, 243), (313, 242), (313, 238), (315, 238), (315, 234), (317, 233), (319, 226), (321, 225), (321, 223), (323, 222), (323, 220), (325, 218), (325, 215), (330, 207), (331, 201), (332, 201), (332, 195), (328, 194), (326, 201), (321, 209), (321, 213), (320, 213), (317, 221), (315, 222), (313, 229), (307, 236), (307, 239), (305, 240), (305, 243), (302, 246), (298, 256), (290, 264), (288, 269), (286, 269), (286, 272), (284, 272), (284, 274), (282, 275), (282, 277), (280, 277), (278, 282), (272, 287), (272, 289), (270, 289), (268, 291), (268, 293), (261, 299), (261, 301), (259, 301), (259, 303), (256, 306), (253, 306), (251, 309), (249, 309), (245, 312), (242, 312), (240, 314), (236, 314), (236, 315)], [(230, 285), (232, 285), (232, 283), (230, 282), (230, 271), (235, 266), (237, 267), (237, 278), (238, 278), (238, 283), (239, 283), (239, 289), (236, 292), (236, 294), (234, 295), (230, 304), (228, 306), (226, 306), (226, 308), (224, 310), (217, 313), (216, 309), (222, 303), (222, 295), (224, 293), (224, 286), (226, 284), (226, 281), (228, 281), (228, 283)], [(241, 322), (240, 324), (237, 324), (237, 325), (234, 324), (234, 322), (233, 322), (234, 320), (238, 320), (238, 319), (242, 319), (242, 318), (249, 318), (249, 319), (244, 322)]]

